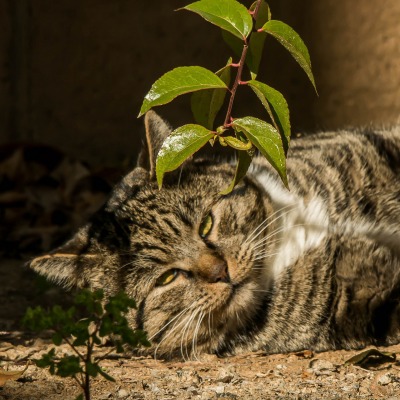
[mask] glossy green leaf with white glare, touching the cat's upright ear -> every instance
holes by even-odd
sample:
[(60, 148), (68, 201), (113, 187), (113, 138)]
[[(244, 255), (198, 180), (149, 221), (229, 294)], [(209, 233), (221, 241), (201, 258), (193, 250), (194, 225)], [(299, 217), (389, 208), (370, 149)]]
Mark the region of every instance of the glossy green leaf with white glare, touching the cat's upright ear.
[(164, 141), (157, 156), (156, 175), (161, 188), (164, 174), (178, 168), (203, 147), (214, 133), (200, 125), (189, 124), (175, 129)]

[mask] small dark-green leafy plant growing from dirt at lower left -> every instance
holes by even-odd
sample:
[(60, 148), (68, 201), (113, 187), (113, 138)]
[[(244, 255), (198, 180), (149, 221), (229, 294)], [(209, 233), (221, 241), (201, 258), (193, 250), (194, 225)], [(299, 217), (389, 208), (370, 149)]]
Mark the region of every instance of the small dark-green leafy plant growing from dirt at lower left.
[[(83, 391), (77, 400), (83, 399), (83, 396), (90, 400), (91, 378), (101, 375), (114, 381), (100, 367), (101, 359), (93, 356), (94, 347), (101, 344), (101, 338), (109, 337), (113, 343), (111, 351), (118, 353), (123, 352), (124, 345), (150, 345), (146, 334), (140, 330), (133, 331), (125, 318), (128, 310), (136, 307), (133, 299), (121, 292), (109, 297), (105, 304), (103, 300), (103, 291), (83, 290), (75, 297), (75, 305), (68, 309), (58, 305), (49, 311), (41, 307), (28, 308), (22, 320), (22, 324), (32, 331), (54, 331), (52, 341), (56, 346), (64, 341), (71, 347), (74, 355), (57, 358), (55, 348), (52, 348), (35, 363), (40, 368), (49, 368), (52, 375), (75, 379)], [(79, 315), (84, 317), (80, 318)]]

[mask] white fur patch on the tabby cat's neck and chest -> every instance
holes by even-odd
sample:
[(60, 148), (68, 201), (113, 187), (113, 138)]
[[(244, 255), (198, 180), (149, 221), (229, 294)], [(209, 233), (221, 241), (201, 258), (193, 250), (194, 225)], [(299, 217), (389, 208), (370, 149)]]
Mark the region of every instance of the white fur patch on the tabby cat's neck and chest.
[[(264, 260), (266, 285), (279, 277), (282, 271), (296, 262), (307, 251), (317, 248), (328, 234), (364, 237), (391, 248), (400, 255), (400, 227), (382, 226), (366, 219), (357, 222), (342, 219), (330, 221), (324, 199), (318, 196), (307, 202), (293, 191), (287, 190), (280, 179), (262, 165), (251, 169), (254, 178), (270, 196), (277, 214), (278, 228), (269, 234), (267, 243), (276, 242), (271, 257)], [(277, 219), (279, 218), (279, 220)]]

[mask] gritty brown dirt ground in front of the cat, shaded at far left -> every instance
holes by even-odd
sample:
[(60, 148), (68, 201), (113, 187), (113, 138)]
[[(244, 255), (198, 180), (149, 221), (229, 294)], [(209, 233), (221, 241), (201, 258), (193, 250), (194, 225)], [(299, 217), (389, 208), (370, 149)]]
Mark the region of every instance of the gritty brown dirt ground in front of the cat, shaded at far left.
[[(40, 358), (53, 346), (49, 339), (20, 332), (18, 321), (26, 307), (68, 303), (68, 295), (54, 288), (39, 290), (22, 260), (3, 259), (0, 274), (0, 367), (22, 370), (29, 360)], [(106, 350), (97, 351), (101, 354)], [(400, 345), (381, 350), (400, 354)], [(57, 351), (60, 355), (71, 353), (66, 345)], [(249, 353), (226, 358), (203, 355), (195, 361), (110, 354), (101, 365), (116, 382), (95, 379), (92, 398), (400, 400), (400, 364), (345, 365), (357, 353), (360, 351)], [(69, 400), (78, 394), (72, 379), (52, 376), (33, 364), (18, 380), (0, 386), (0, 400)]]

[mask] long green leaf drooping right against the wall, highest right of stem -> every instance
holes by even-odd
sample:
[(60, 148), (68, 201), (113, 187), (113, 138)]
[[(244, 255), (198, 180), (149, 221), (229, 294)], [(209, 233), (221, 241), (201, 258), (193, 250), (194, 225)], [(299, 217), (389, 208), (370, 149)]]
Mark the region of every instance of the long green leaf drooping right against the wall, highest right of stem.
[(291, 53), (294, 59), (299, 63), (300, 67), (303, 68), (304, 72), (307, 74), (315, 91), (317, 91), (314, 76), (311, 71), (310, 55), (307, 46), (304, 44), (299, 34), (289, 25), (276, 20), (268, 21), (261, 29), (275, 37)]

